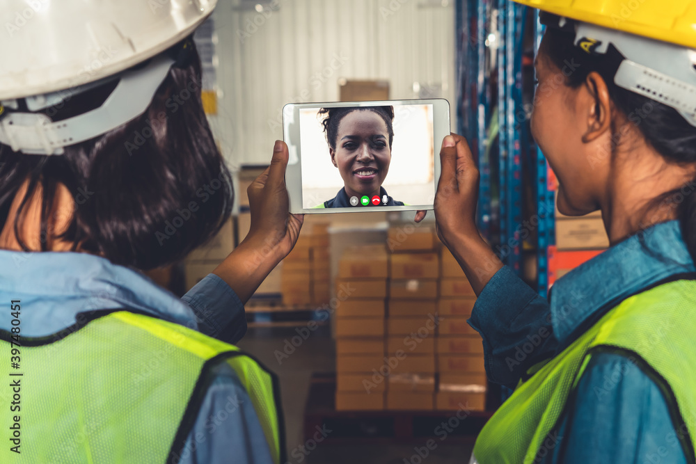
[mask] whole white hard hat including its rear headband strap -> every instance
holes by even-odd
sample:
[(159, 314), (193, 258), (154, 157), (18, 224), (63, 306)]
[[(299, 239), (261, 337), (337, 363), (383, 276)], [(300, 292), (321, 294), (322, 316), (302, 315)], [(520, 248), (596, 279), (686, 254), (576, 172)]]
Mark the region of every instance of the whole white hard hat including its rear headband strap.
[[(191, 35), (217, 0), (4, 2), (0, 143), (28, 154), (63, 154), (63, 147), (141, 115), (177, 59), (161, 52)], [(116, 88), (96, 109), (59, 122), (38, 113), (113, 79)], [(20, 110), (21, 99), (28, 111)]]

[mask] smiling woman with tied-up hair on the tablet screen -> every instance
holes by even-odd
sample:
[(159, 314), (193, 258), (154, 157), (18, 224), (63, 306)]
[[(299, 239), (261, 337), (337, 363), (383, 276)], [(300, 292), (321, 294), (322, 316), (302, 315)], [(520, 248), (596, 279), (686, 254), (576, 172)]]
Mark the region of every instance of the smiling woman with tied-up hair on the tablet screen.
[(315, 208), (363, 206), (361, 198), (372, 200), (375, 196), (379, 197), (376, 205), (403, 206), (404, 202), (395, 201), (382, 187), (391, 161), (394, 107), (322, 108), (319, 115), (324, 117), (331, 162), (344, 186), (334, 198)]

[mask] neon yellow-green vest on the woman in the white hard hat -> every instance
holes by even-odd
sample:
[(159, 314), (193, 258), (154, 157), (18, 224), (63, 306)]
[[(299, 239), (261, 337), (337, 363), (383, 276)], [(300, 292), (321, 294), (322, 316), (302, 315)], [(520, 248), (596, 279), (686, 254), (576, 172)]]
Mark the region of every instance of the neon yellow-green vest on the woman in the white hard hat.
[[(9, 353), (10, 336), (0, 332)], [(277, 378), (235, 346), (126, 311), (65, 331), (60, 339), (19, 342), (25, 345), (19, 347), (19, 369), (6, 362), (0, 370), (22, 385), (12, 413), (19, 416), (21, 454), (6, 442), (0, 462), (178, 463), (191, 452), (184, 442), (212, 381), (210, 368), (219, 362), (227, 362), (246, 388), (274, 462), (285, 459)], [(12, 401), (8, 390), (0, 389), (5, 405)], [(237, 400), (228, 398), (227, 415)], [(196, 438), (197, 445), (206, 439)]]

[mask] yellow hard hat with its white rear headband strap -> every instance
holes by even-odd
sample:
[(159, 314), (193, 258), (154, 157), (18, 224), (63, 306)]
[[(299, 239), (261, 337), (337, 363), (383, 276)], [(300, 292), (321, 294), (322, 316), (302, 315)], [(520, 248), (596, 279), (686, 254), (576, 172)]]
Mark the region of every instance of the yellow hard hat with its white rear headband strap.
[[(514, 0), (573, 31), (587, 54), (618, 51), (614, 83), (679, 111), (696, 126), (696, 1)], [(614, 56), (614, 54), (612, 54)]]

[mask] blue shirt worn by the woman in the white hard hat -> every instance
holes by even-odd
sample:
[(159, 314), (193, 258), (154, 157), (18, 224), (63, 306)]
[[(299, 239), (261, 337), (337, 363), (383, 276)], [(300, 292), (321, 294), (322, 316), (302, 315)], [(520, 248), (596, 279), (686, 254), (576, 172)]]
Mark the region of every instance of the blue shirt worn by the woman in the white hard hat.
[[(214, 274), (179, 299), (141, 273), (85, 253), (0, 250), (0, 301), (13, 299), (21, 300), (26, 308), (22, 311), (22, 335), (26, 337), (50, 335), (72, 326), (79, 312), (124, 307), (229, 343), (246, 333), (242, 301)], [(10, 330), (9, 324), (9, 318), (0, 318), (0, 328)], [(175, 462), (229, 463), (233, 459), (242, 464), (272, 463), (258, 416), (237, 374), (227, 364), (219, 365), (214, 374), (187, 444)]]

